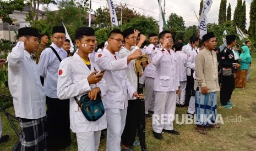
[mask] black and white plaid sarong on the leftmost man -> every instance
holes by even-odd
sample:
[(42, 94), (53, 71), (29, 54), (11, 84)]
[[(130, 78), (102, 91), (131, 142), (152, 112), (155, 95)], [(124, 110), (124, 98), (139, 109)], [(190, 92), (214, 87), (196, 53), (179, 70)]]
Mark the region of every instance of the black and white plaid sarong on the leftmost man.
[(21, 127), (18, 150), (46, 150), (45, 117), (40, 119), (19, 118)]

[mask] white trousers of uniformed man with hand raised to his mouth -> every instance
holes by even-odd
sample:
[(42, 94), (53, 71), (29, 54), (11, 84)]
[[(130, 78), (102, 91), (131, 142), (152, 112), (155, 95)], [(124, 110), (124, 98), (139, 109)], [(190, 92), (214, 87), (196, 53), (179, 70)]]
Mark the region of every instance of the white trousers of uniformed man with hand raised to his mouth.
[(176, 109), (176, 91), (156, 92), (155, 107), (152, 117), (154, 132), (161, 133), (162, 129), (173, 130)]

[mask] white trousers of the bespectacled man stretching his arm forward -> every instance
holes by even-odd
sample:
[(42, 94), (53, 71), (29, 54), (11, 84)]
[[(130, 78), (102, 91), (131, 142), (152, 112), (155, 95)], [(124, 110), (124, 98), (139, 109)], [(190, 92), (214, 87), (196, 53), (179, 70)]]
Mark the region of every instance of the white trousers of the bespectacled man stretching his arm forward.
[(120, 150), (121, 136), (126, 125), (127, 108), (105, 109), (107, 115), (107, 151)]

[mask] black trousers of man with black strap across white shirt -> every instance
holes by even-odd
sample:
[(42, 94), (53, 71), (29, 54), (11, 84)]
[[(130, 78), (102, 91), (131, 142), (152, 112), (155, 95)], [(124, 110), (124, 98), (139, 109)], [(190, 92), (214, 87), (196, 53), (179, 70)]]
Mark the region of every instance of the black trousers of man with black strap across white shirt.
[(46, 131), (48, 149), (64, 149), (71, 143), (69, 99), (59, 100), (46, 96)]

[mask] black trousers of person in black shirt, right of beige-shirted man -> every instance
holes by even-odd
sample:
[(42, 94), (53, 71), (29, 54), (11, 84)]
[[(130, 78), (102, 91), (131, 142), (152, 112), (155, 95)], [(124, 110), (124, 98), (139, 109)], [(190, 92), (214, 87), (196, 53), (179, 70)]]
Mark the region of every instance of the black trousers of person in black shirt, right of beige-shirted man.
[(233, 76), (221, 77), (220, 103), (226, 106), (230, 101), (233, 90), (235, 89), (235, 78)]

